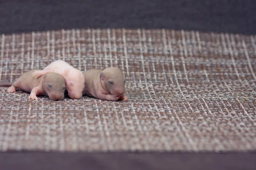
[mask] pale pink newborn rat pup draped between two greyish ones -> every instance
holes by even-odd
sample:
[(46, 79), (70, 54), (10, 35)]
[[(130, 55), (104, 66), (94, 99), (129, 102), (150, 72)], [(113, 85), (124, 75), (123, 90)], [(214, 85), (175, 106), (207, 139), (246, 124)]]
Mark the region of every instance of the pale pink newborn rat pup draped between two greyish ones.
[(51, 72), (61, 74), (64, 77), (68, 96), (71, 99), (79, 99), (82, 97), (84, 75), (80, 70), (69, 65), (65, 61), (57, 60), (47, 65), (43, 70), (34, 71), (32, 76), (37, 78)]

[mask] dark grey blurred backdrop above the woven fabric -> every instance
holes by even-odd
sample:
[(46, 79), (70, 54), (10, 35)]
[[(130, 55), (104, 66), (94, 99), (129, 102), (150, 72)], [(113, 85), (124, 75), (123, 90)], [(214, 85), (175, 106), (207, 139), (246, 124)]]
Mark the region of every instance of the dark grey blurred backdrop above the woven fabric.
[(256, 34), (255, 0), (0, 0), (0, 33), (171, 28)]

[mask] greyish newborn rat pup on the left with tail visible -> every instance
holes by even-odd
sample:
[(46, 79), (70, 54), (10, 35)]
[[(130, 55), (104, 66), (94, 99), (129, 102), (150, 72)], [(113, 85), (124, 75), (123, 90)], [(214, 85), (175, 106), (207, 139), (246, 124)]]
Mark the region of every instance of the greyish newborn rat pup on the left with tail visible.
[(29, 99), (38, 99), (37, 96), (47, 94), (50, 99), (64, 99), (66, 90), (64, 77), (57, 73), (45, 74), (44, 77), (34, 78), (32, 73), (35, 70), (25, 72), (14, 83), (3, 82), (0, 86), (11, 86), (7, 89), (8, 93), (13, 93), (16, 88), (30, 92)]

